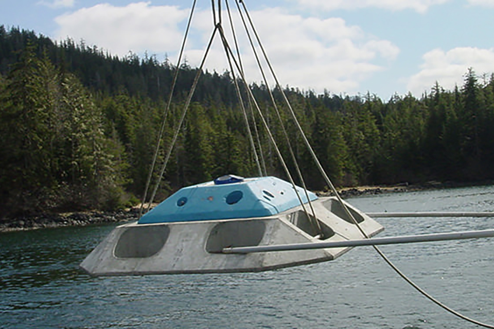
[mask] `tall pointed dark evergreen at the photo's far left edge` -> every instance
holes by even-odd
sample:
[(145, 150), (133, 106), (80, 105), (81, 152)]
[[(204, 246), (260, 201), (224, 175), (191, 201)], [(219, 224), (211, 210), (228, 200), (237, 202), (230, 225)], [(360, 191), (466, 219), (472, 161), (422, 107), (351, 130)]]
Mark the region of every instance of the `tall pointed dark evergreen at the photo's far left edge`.
[(36, 205), (36, 195), (52, 185), (46, 148), (49, 134), (46, 107), (47, 90), (44, 87), (40, 62), (29, 44), (21, 59), (8, 76), (2, 107), (2, 194), (7, 195), (6, 205), (29, 209)]

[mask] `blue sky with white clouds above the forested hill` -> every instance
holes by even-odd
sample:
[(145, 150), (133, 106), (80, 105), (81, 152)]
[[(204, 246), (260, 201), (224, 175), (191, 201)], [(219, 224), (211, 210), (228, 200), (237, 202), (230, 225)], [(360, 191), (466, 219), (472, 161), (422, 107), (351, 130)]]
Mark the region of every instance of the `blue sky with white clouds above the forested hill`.
[[(383, 101), (412, 93), (420, 98), (436, 82), (463, 85), (469, 67), (479, 81), (494, 72), (494, 0), (243, 0), (281, 86), (320, 94)], [(0, 0), (0, 25), (54, 41), (70, 38), (119, 57), (134, 53), (177, 64), (193, 0)], [(245, 77), (262, 82), (248, 36), (232, 10)], [(215, 12), (218, 2), (215, 0)], [(235, 49), (221, 5), (222, 26)], [(245, 14), (244, 14), (245, 17)], [(197, 0), (184, 59), (202, 62), (214, 31), (210, 0)], [(251, 32), (251, 35), (252, 32)], [(256, 43), (257, 52), (262, 54)], [(266, 63), (262, 64), (264, 69)], [(230, 70), (219, 34), (205, 69)], [(274, 78), (265, 70), (268, 84)]]

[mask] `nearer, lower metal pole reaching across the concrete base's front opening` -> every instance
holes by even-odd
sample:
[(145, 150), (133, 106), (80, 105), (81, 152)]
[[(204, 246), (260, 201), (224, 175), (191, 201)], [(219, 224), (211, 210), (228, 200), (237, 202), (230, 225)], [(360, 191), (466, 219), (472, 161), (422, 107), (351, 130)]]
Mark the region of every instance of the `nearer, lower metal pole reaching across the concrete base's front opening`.
[(376, 239), (346, 240), (334, 242), (314, 242), (314, 243), (297, 243), (286, 245), (272, 246), (252, 246), (252, 247), (229, 247), (223, 248), (223, 253), (251, 253), (266, 251), (288, 251), (288, 250), (306, 250), (306, 249), (324, 249), (324, 248), (341, 248), (341, 247), (358, 247), (358, 246), (377, 246), (402, 243), (416, 242), (433, 242), (446, 240), (463, 240), (478, 239), (480, 237), (494, 237), (494, 229), (481, 231), (463, 231), (450, 233), (433, 233), (421, 235), (401, 235), (380, 237)]

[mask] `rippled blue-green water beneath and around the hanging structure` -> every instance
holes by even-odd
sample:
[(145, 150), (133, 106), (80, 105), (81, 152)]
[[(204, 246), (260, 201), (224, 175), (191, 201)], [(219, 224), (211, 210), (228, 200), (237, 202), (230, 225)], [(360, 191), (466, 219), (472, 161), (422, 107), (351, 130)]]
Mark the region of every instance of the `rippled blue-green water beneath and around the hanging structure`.
[[(349, 199), (367, 212), (494, 211), (494, 187)], [(494, 228), (494, 218), (381, 218), (379, 236)], [(78, 265), (114, 225), (0, 233), (2, 328), (468, 328), (360, 247), (261, 273), (92, 278)], [(382, 246), (417, 284), (494, 324), (494, 239)]]

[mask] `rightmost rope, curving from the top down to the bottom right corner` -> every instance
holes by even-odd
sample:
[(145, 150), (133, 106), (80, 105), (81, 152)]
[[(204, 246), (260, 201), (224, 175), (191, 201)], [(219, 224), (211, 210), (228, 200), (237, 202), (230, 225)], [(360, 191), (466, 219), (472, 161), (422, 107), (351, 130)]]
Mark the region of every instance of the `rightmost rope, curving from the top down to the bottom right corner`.
[[(321, 166), (321, 162), (319, 161), (319, 159), (318, 159), (318, 158), (317, 158), (317, 156), (315, 155), (315, 153), (314, 153), (314, 151), (313, 151), (313, 149), (312, 149), (312, 147), (311, 147), (311, 145), (310, 145), (310, 143), (309, 143), (309, 141), (308, 141), (308, 139), (307, 139), (307, 137), (306, 137), (306, 135), (305, 135), (304, 131), (302, 130), (301, 125), (299, 124), (299, 122), (298, 122), (298, 120), (297, 120), (297, 118), (296, 118), (296, 116), (295, 116), (295, 113), (294, 113), (294, 111), (293, 111), (293, 108), (292, 108), (292, 107), (291, 107), (291, 105), (290, 105), (290, 102), (288, 101), (288, 98), (286, 97), (286, 95), (285, 95), (285, 93), (284, 93), (283, 89), (281, 88), (281, 86), (280, 86), (280, 84), (279, 84), (279, 82), (278, 82), (278, 80), (277, 80), (277, 78), (276, 78), (276, 75), (274, 74), (274, 70), (273, 70), (273, 68), (272, 68), (272, 66), (271, 66), (271, 64), (270, 64), (270, 62), (269, 62), (269, 60), (268, 60), (268, 57), (267, 57), (267, 55), (266, 55), (266, 51), (264, 51), (264, 48), (262, 47), (262, 44), (260, 43), (259, 36), (258, 36), (258, 34), (257, 34), (256, 30), (255, 30), (255, 27), (254, 27), (254, 25), (253, 25), (253, 23), (252, 23), (252, 20), (251, 20), (251, 18), (250, 18), (250, 16), (249, 16), (249, 12), (247, 11), (247, 9), (246, 9), (246, 7), (245, 7), (244, 2), (243, 2), (242, 0), (236, 0), (236, 1), (239, 1), (239, 2), (242, 4), (243, 8), (244, 8), (244, 11), (245, 11), (245, 13), (246, 13), (246, 15), (247, 15), (247, 17), (248, 17), (248, 19), (249, 19), (249, 21), (250, 21), (251, 27), (252, 27), (252, 29), (253, 29), (253, 31), (254, 31), (254, 33), (255, 33), (255, 35), (256, 35), (256, 38), (257, 38), (258, 44), (259, 44), (259, 46), (260, 46), (260, 48), (261, 48), (261, 50), (262, 50), (262, 53), (263, 53), (263, 55), (264, 55), (264, 58), (265, 58), (265, 60), (266, 60), (266, 62), (267, 62), (267, 64), (268, 64), (268, 66), (269, 66), (269, 68), (270, 68), (270, 70), (271, 70), (271, 74), (273, 75), (273, 77), (274, 77), (274, 79), (275, 79), (275, 81), (276, 81), (276, 86), (277, 86), (277, 88), (280, 90), (281, 94), (283, 95), (283, 97), (284, 97), (284, 99), (285, 99), (285, 101), (286, 101), (286, 103), (287, 103), (287, 106), (288, 106), (288, 108), (289, 108), (289, 110), (290, 110), (290, 113), (291, 113), (291, 115), (292, 115), (292, 118), (293, 118), (293, 120), (294, 120), (295, 124), (297, 125), (297, 128), (298, 128), (299, 132), (301, 133), (301, 135), (302, 135), (302, 137), (303, 137), (303, 139), (304, 139), (304, 142), (305, 142), (305, 144), (306, 144), (307, 148), (309, 149), (309, 152), (310, 152), (310, 154), (311, 154), (311, 156), (312, 156), (312, 158), (313, 158), (313, 160), (314, 160), (314, 162), (315, 162), (315, 164), (316, 164), (317, 168), (319, 169), (319, 171), (320, 171), (320, 172), (321, 172), (321, 174), (323, 175), (323, 177), (324, 177), (324, 179), (325, 179), (326, 183), (328, 184), (328, 186), (331, 188), (331, 191), (332, 191), (332, 192), (336, 195), (336, 197), (337, 197), (337, 199), (338, 199), (339, 203), (343, 206), (343, 208), (344, 208), (345, 212), (347, 213), (347, 215), (351, 218), (351, 220), (354, 222), (354, 224), (355, 224), (355, 225), (357, 225), (357, 227), (359, 228), (359, 230), (360, 230), (360, 232), (362, 233), (362, 235), (363, 235), (366, 239), (368, 239), (368, 238), (369, 238), (369, 236), (368, 236), (368, 235), (364, 232), (364, 230), (362, 229), (362, 227), (361, 227), (361, 226), (359, 225), (359, 223), (356, 221), (355, 217), (354, 217), (354, 216), (351, 214), (351, 212), (348, 210), (348, 207), (346, 207), (346, 205), (345, 205), (345, 203), (343, 202), (343, 199), (341, 198), (340, 194), (338, 193), (338, 191), (336, 190), (336, 188), (334, 188), (334, 186), (333, 186), (333, 184), (332, 184), (331, 180), (329, 179), (329, 177), (327, 176), (327, 174), (326, 174), (326, 172), (324, 171), (323, 167)], [(394, 265), (394, 264), (393, 264), (393, 262), (391, 262), (391, 260), (390, 260), (389, 258), (387, 258), (387, 257), (386, 257), (386, 255), (385, 255), (385, 254), (384, 254), (384, 253), (383, 253), (383, 252), (382, 252), (382, 251), (381, 251), (381, 250), (380, 250), (377, 246), (373, 246), (373, 248), (377, 251), (377, 253), (380, 255), (380, 257), (381, 257), (381, 258), (382, 258), (382, 259), (383, 259), (383, 260), (384, 260), (384, 261), (385, 261), (385, 262), (386, 262), (386, 263), (387, 263), (387, 264), (388, 264), (388, 265), (389, 265), (389, 266), (390, 266), (390, 267), (391, 267), (391, 268), (392, 268), (392, 269), (393, 269), (393, 270), (394, 270), (394, 271), (395, 271), (395, 272), (396, 272), (396, 273), (397, 273), (397, 274), (398, 274), (398, 275), (399, 275), (399, 276), (400, 276), (403, 280), (405, 280), (405, 281), (406, 281), (407, 283), (409, 283), (409, 284), (410, 284), (413, 288), (415, 288), (415, 289), (416, 289), (416, 290), (417, 290), (420, 294), (422, 294), (422, 296), (425, 296), (427, 299), (429, 299), (430, 301), (432, 301), (433, 303), (435, 303), (435, 304), (436, 304), (436, 305), (438, 305), (439, 307), (442, 307), (442, 308), (443, 308), (443, 309), (445, 309), (447, 312), (449, 312), (449, 313), (451, 313), (451, 314), (453, 314), (453, 315), (455, 315), (455, 316), (457, 316), (457, 317), (459, 317), (459, 318), (461, 318), (461, 319), (463, 319), (463, 320), (466, 320), (466, 321), (471, 322), (471, 323), (473, 323), (473, 324), (477, 324), (477, 325), (479, 325), (479, 326), (483, 326), (483, 327), (486, 327), (486, 328), (492, 328), (492, 329), (494, 329), (494, 325), (486, 324), (486, 323), (483, 323), (483, 322), (477, 321), (477, 320), (475, 320), (475, 319), (469, 318), (469, 317), (467, 317), (467, 316), (465, 316), (465, 315), (461, 314), (460, 312), (457, 312), (456, 310), (452, 309), (451, 307), (449, 307), (449, 306), (447, 306), (447, 305), (443, 304), (442, 302), (440, 302), (439, 300), (437, 300), (435, 297), (431, 296), (429, 293), (427, 293), (427, 291), (425, 291), (424, 289), (420, 288), (420, 287), (419, 287), (416, 283), (414, 283), (414, 282), (413, 282), (410, 278), (408, 278), (408, 276), (407, 276), (407, 275), (405, 275), (405, 274), (404, 274), (404, 273), (403, 273), (403, 272), (402, 272), (402, 271), (401, 271), (401, 270), (400, 270), (400, 269), (399, 269), (396, 265)]]

